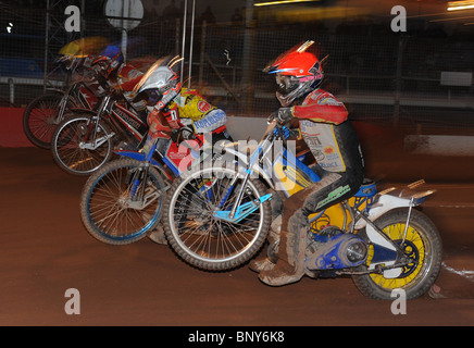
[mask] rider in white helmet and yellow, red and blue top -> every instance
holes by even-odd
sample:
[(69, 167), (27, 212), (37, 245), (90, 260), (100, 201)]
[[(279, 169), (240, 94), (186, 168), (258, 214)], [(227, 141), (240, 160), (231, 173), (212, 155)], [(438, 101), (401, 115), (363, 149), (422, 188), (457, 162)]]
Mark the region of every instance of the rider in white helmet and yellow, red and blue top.
[[(145, 100), (147, 105), (153, 107), (147, 119), (150, 128), (142, 148), (146, 153), (159, 139), (180, 142), (192, 139), (196, 134), (203, 134), (204, 139), (211, 136), (207, 140), (212, 145), (232, 140), (225, 127), (225, 112), (205, 101), (197, 90), (182, 88), (177, 74), (180, 61), (178, 57), (159, 60), (134, 89), (136, 100)], [(161, 226), (150, 238), (166, 244)]]

